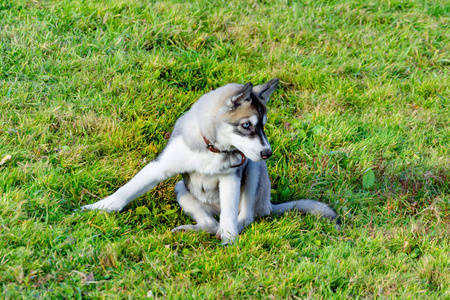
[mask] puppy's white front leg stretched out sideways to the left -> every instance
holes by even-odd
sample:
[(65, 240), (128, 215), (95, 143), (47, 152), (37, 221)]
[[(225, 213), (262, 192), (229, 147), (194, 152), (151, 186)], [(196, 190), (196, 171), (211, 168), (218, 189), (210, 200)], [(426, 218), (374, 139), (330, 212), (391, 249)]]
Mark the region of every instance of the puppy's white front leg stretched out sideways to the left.
[(120, 211), (128, 203), (154, 188), (159, 182), (185, 171), (189, 161), (190, 150), (182, 139), (170, 141), (164, 151), (128, 183), (118, 189), (111, 196), (85, 205), (82, 210), (98, 209), (107, 212)]

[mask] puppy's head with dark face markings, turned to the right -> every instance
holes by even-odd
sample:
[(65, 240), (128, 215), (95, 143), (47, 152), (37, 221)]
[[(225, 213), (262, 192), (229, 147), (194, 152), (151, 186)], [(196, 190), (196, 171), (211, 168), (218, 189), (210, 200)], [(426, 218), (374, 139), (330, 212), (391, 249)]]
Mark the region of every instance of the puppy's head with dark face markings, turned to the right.
[(252, 83), (233, 85), (216, 123), (216, 138), (220, 144), (237, 148), (253, 161), (268, 159), (272, 155), (264, 124), (267, 121), (266, 104), (278, 82), (275, 78), (258, 86)]

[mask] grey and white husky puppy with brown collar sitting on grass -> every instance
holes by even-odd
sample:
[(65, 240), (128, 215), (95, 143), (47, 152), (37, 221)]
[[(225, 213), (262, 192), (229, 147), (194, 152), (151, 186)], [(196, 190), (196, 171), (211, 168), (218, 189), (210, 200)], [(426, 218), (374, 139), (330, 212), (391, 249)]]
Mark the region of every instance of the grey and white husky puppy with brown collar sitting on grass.
[[(227, 84), (201, 96), (175, 123), (161, 154), (111, 196), (82, 210), (120, 211), (128, 203), (177, 174), (177, 201), (195, 225), (233, 243), (255, 217), (289, 210), (336, 219), (336, 212), (315, 200), (270, 202), (270, 179), (264, 160), (272, 150), (264, 132), (266, 105), (279, 83)], [(219, 216), (217, 221), (215, 216)]]

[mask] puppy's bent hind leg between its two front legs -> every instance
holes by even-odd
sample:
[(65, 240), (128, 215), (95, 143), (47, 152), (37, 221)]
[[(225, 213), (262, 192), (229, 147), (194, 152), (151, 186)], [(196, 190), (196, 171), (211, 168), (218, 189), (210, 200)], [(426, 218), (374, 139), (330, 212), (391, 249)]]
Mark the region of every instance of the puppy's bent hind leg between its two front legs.
[(183, 208), (183, 211), (194, 219), (195, 225), (181, 225), (172, 229), (172, 232), (195, 230), (206, 231), (216, 234), (219, 229), (219, 222), (214, 218), (214, 211), (211, 207), (201, 203), (188, 191), (183, 181), (175, 185), (177, 201)]

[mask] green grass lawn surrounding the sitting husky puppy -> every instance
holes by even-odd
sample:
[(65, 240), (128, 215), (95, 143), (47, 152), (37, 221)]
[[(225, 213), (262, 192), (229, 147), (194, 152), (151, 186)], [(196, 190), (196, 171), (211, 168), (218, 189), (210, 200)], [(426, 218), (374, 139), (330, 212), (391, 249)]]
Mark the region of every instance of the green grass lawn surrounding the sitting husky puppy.
[[(449, 75), (446, 0), (0, 0), (0, 297), (448, 299)], [(177, 178), (75, 212), (200, 95), (274, 77), (273, 200), (330, 203), (342, 231), (289, 213), (228, 247), (172, 235)]]

